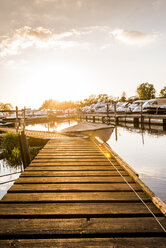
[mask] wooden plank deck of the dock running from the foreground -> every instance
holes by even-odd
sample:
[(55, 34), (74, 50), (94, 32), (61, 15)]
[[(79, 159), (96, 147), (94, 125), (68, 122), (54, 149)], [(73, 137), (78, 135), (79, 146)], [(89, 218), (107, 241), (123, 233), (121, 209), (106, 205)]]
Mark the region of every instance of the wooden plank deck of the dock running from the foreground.
[(166, 247), (166, 217), (128, 171), (99, 142), (50, 140), (0, 201), (0, 247)]

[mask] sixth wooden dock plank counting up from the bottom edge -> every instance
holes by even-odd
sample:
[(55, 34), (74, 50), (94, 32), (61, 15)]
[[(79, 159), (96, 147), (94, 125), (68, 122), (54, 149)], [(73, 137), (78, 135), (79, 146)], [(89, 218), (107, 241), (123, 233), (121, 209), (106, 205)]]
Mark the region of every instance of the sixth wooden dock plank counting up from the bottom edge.
[[(129, 183), (134, 180), (125, 176)], [(17, 183), (124, 183), (123, 178), (117, 177), (20, 177), (15, 181)]]

